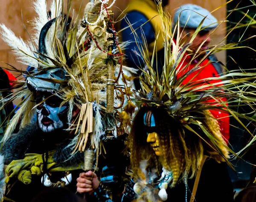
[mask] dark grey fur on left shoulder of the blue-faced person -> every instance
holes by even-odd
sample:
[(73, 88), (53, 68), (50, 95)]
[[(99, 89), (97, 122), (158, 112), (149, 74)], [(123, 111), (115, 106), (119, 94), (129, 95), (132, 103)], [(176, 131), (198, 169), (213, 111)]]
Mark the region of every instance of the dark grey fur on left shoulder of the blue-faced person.
[(32, 142), (32, 137), (38, 130), (37, 124), (28, 124), (18, 133), (12, 134), (3, 144), (0, 151), (4, 156), (4, 164), (10, 164), (13, 160), (23, 159)]

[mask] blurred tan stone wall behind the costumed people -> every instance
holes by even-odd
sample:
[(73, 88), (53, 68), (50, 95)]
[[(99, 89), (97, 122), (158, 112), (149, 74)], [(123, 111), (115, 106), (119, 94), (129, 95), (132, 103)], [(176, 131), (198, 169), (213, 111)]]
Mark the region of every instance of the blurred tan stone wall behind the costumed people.
[[(246, 0), (245, 0), (246, 1)], [(4, 23), (9, 27), (16, 36), (20, 36), (24, 40), (29, 40), (29, 35), (32, 34), (32, 26), (30, 24), (31, 20), (35, 16), (33, 11), (33, 0), (0, 0), (0, 23)], [(47, 4), (50, 5), (51, 0), (47, 0)], [(67, 1), (64, 0), (67, 3)], [(81, 3), (83, 4), (82, 8), (89, 2), (89, 0), (73, 0), (73, 9), (74, 14), (79, 13), (79, 8)], [(115, 5), (112, 7), (112, 10), (115, 14), (115, 17), (118, 17), (119, 14), (125, 9), (129, 0), (116, 0)], [(169, 6), (166, 7), (166, 10), (173, 14), (175, 9), (184, 3), (194, 3), (198, 4), (209, 11), (213, 11), (222, 4), (226, 3), (225, 0), (170, 0)], [(82, 14), (83, 12), (81, 12)], [(227, 8), (223, 6), (221, 9), (215, 11), (214, 16), (218, 20), (224, 20), (227, 16)], [(26, 27), (26, 28), (25, 28)], [(27, 34), (29, 33), (29, 35)], [(216, 44), (226, 35), (226, 23), (223, 23), (218, 30), (214, 33), (212, 37), (212, 43)], [(226, 53), (221, 52), (218, 54), (218, 59), (223, 63), (226, 62)], [(24, 68), (15, 60), (15, 57), (12, 55), (9, 47), (3, 43), (3, 40), (0, 39), (0, 65), (3, 65), (2, 61), (10, 63), (18, 68)]]

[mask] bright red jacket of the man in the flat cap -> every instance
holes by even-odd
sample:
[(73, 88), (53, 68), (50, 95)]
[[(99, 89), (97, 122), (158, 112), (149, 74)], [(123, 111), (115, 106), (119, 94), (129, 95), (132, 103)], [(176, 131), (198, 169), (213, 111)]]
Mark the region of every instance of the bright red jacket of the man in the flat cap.
[[(179, 72), (177, 72), (177, 78), (180, 78), (180, 76), (186, 74), (189, 70), (191, 70), (193, 67), (195, 67), (195, 65), (197, 64), (196, 60), (192, 61), (192, 63), (189, 66), (187, 66), (185, 70), (183, 69), (184, 66), (186, 66), (186, 64), (188, 64), (190, 60), (191, 60), (191, 56), (185, 54), (184, 58), (180, 62)], [(191, 82), (198, 81), (200, 79), (209, 78), (209, 77), (219, 77), (218, 72), (215, 69), (215, 67), (213, 66), (213, 64), (212, 63), (207, 64), (207, 63), (209, 63), (209, 59), (205, 59), (204, 61), (202, 61), (199, 66), (204, 66), (204, 67), (196, 70), (195, 72), (190, 73), (185, 78), (185, 80), (183, 81), (182, 84), (187, 84), (188, 82), (191, 83)], [(200, 73), (198, 73), (198, 72), (200, 72)], [(196, 74), (198, 74), (198, 75), (196, 75)], [(195, 76), (195, 78), (193, 78), (194, 76)], [(214, 84), (217, 82), (220, 82), (220, 80), (212, 80), (212, 81), (209, 81), (208, 83)], [(221, 98), (221, 99), (224, 102), (226, 101), (226, 98)], [(215, 100), (213, 100), (213, 99), (207, 100), (207, 102), (214, 102), (214, 101)], [(222, 110), (210, 110), (210, 111), (211, 111), (212, 115), (216, 119), (218, 119), (221, 133), (222, 133), (224, 139), (226, 140), (226, 142), (228, 142), (228, 139), (230, 138), (229, 114)]]

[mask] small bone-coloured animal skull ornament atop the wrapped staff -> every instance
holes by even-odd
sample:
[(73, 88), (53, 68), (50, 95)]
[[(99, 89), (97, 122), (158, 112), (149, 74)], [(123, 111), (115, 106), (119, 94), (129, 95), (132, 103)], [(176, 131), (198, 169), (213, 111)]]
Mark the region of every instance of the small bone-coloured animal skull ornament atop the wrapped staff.
[[(113, 31), (108, 26), (110, 18), (106, 10), (101, 10), (101, 2), (95, 1), (95, 3), (87, 3), (84, 9), (84, 20), (87, 23), (88, 30), (92, 37), (97, 41), (99, 47), (102, 50), (108, 51), (108, 47), (113, 45)], [(111, 15), (112, 12), (108, 11)], [(83, 26), (84, 23), (82, 23)], [(111, 33), (112, 32), (112, 33)]]

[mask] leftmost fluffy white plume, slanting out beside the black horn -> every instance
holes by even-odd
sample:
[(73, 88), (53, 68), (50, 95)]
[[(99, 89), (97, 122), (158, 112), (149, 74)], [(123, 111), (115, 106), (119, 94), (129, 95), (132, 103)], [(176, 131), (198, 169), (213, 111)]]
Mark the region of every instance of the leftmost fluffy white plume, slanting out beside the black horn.
[[(1, 38), (5, 43), (8, 44), (8, 46), (10, 46), (10, 48), (13, 50), (13, 52), (19, 59), (19, 62), (25, 65), (37, 67), (38, 61), (34, 59), (36, 58), (36, 56), (32, 51), (34, 50), (32, 43), (28, 42), (28, 44), (26, 44), (21, 38), (17, 38), (15, 34), (4, 24), (0, 24), (0, 27), (2, 29)], [(27, 55), (21, 52), (20, 50), (25, 52)], [(34, 58), (30, 57), (29, 55), (31, 55)]]

